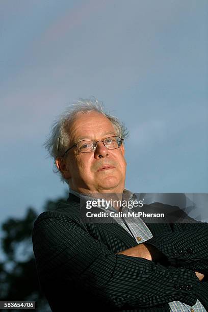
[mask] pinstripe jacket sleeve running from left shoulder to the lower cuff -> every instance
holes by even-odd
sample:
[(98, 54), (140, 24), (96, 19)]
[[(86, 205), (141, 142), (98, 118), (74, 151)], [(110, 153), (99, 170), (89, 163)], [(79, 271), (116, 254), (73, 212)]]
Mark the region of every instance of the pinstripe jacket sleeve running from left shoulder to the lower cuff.
[(192, 306), (200, 292), (193, 271), (114, 254), (61, 214), (35, 222), (33, 249), (39, 276), (73, 280), (114, 308), (151, 307), (171, 301)]

